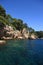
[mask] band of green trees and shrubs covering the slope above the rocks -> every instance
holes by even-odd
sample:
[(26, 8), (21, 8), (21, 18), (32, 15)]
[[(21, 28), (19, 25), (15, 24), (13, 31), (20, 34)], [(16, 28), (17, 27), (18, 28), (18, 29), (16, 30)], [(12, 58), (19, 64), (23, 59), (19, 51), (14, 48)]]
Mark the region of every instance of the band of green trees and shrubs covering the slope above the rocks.
[(30, 35), (34, 33), (38, 37), (43, 37), (43, 32), (35, 32), (35, 30), (31, 27), (28, 27), (28, 25), (24, 23), (23, 20), (12, 18), (9, 14), (6, 14), (6, 10), (0, 5), (0, 39), (2, 36), (4, 36), (3, 33), (5, 33), (4, 28), (6, 25), (13, 27), (13, 30), (18, 30), (21, 32), (24, 28), (26, 28), (30, 32)]

